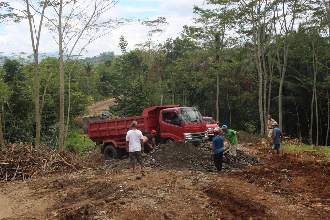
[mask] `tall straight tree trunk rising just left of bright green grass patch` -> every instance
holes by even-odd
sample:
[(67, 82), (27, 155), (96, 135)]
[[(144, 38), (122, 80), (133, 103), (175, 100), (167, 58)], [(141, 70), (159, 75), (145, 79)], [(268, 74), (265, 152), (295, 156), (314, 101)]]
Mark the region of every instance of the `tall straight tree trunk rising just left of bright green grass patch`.
[(63, 0), (60, 0), (58, 10), (58, 44), (60, 56), (60, 130), (58, 140), (58, 151), (63, 150), (63, 136), (64, 136), (64, 63), (63, 63), (63, 39), (62, 39), (62, 7)]

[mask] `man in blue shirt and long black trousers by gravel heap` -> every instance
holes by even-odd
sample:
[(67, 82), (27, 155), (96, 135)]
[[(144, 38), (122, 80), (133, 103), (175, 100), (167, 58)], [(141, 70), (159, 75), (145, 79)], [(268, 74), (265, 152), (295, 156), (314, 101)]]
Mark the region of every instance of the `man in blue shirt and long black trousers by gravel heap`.
[(217, 171), (222, 170), (222, 157), (223, 157), (223, 138), (219, 135), (219, 130), (214, 130), (214, 138), (212, 141), (211, 157), (213, 155), (214, 164)]

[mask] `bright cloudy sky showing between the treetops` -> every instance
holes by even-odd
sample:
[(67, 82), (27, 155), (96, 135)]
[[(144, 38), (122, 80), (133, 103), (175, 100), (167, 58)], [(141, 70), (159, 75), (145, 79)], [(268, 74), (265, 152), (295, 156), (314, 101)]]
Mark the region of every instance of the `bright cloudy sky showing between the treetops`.
[[(19, 1), (10, 1), (10, 4), (23, 9)], [(158, 38), (157, 43), (160, 43), (167, 38), (179, 36), (182, 25), (194, 25), (194, 5), (202, 6), (203, 2), (202, 0), (119, 0), (115, 7), (100, 17), (100, 21), (108, 18), (134, 17), (133, 19), (147, 18), (147, 20), (155, 20), (159, 16), (166, 17), (169, 24), (162, 27), (165, 32)], [(86, 47), (88, 52), (84, 52), (82, 57), (92, 57), (106, 51), (121, 54), (118, 47), (121, 35), (128, 42), (127, 47), (134, 48), (134, 45), (147, 40), (146, 35), (149, 30), (148, 27), (140, 24), (120, 27), (90, 43)], [(46, 27), (42, 29), (41, 39), (39, 53), (55, 53), (59, 50), (56, 41)], [(0, 27), (0, 51), (3, 52), (3, 55), (8, 56), (20, 52), (33, 53), (27, 19), (20, 23)]]

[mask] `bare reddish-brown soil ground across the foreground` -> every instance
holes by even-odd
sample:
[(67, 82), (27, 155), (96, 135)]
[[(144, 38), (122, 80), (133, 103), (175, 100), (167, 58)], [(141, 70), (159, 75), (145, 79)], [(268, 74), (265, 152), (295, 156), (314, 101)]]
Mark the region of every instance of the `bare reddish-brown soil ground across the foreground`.
[(97, 156), (95, 170), (0, 185), (0, 219), (329, 219), (330, 204), (309, 199), (330, 198), (330, 163), (303, 151), (272, 160), (260, 146), (239, 147), (264, 163), (242, 173), (132, 173), (127, 157)]

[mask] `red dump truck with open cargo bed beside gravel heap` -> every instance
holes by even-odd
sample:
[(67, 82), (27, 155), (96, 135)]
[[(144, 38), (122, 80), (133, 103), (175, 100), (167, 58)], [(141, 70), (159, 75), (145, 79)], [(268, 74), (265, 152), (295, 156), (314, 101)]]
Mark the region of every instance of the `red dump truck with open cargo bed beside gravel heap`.
[(157, 131), (156, 144), (171, 141), (188, 141), (194, 145), (209, 140), (206, 123), (199, 111), (193, 107), (150, 106), (141, 116), (103, 121), (87, 121), (89, 138), (96, 144), (103, 144), (101, 153), (106, 160), (121, 157), (126, 152), (126, 134), (136, 121), (143, 135)]

